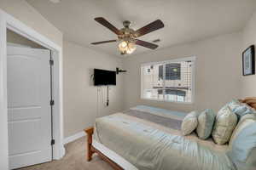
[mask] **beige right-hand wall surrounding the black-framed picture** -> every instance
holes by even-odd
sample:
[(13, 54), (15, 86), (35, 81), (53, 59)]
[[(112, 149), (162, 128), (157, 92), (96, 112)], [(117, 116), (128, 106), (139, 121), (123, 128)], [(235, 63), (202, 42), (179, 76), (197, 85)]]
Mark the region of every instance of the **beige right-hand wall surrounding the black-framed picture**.
[[(256, 12), (247, 22), (247, 26), (243, 30), (241, 52), (251, 45), (256, 45)], [(241, 54), (241, 53), (240, 53)], [(241, 75), (241, 74), (240, 74)], [(241, 97), (256, 96), (256, 75), (241, 76)]]

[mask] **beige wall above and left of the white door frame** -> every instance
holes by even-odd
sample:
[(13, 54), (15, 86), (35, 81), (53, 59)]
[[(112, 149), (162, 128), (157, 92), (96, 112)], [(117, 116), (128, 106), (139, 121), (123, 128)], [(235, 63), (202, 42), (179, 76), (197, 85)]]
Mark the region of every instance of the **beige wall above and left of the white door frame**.
[[(25, 0), (0, 0), (0, 8), (62, 47), (61, 31), (45, 20)], [(0, 113), (0, 134), (0, 169), (6, 170), (8, 169), (8, 130), (7, 116), (3, 113)]]

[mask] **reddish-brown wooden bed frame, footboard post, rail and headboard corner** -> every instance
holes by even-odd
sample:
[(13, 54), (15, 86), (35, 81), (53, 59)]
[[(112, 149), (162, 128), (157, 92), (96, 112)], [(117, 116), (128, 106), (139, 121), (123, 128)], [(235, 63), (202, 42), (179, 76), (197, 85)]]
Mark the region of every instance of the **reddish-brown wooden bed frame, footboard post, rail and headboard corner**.
[[(251, 106), (256, 110), (256, 97), (247, 97), (245, 99), (239, 99), (241, 103), (246, 103), (247, 105)], [(107, 161), (111, 167), (113, 167), (114, 170), (124, 170), (122, 167), (120, 167), (117, 163), (112, 161), (108, 158), (108, 156), (105, 156), (102, 154), (100, 150), (96, 150), (95, 147), (92, 145), (92, 134), (94, 131), (94, 127), (88, 127), (84, 129), (84, 132), (87, 134), (87, 161), (91, 161), (91, 158), (94, 153), (97, 153), (98, 156), (102, 158), (103, 161)]]

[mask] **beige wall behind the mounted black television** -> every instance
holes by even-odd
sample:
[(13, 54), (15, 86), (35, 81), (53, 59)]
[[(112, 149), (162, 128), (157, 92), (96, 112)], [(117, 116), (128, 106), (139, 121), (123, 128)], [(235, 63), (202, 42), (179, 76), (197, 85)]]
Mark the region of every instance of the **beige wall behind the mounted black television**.
[[(97, 88), (90, 80), (92, 69), (115, 70), (122, 68), (122, 59), (102, 54), (73, 42), (64, 41), (64, 136), (81, 132), (92, 126), (96, 116), (105, 116), (123, 110), (123, 74), (117, 75), (117, 86), (109, 92), (107, 88)], [(103, 97), (102, 97), (103, 93)]]

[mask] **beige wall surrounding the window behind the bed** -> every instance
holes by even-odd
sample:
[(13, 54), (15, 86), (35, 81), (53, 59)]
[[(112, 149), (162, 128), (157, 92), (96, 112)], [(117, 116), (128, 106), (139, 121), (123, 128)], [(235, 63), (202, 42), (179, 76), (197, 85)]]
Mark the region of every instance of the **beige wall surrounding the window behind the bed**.
[[(241, 33), (212, 37), (148, 54), (129, 56), (124, 65), (125, 109), (134, 105), (152, 105), (174, 111), (212, 108), (215, 111), (240, 96)], [(140, 65), (147, 62), (196, 56), (195, 102), (192, 105), (140, 99)]]

